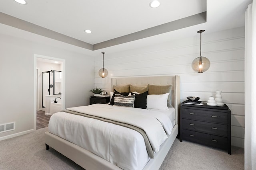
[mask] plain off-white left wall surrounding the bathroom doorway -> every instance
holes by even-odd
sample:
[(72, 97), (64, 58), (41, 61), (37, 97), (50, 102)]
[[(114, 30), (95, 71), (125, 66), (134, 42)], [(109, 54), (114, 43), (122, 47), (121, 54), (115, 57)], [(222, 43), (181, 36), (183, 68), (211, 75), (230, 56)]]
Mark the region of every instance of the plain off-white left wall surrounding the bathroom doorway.
[(94, 87), (93, 57), (8, 32), (0, 37), (0, 124), (16, 122), (16, 130), (0, 133), (0, 140), (34, 129), (34, 54), (65, 60), (66, 107), (89, 104), (89, 91)]

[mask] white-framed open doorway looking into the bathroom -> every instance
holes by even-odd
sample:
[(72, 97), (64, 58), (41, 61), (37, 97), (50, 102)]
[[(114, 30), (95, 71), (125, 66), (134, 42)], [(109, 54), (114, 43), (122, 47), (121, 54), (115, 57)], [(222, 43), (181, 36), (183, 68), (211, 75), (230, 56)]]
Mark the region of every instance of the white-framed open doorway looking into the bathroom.
[(34, 55), (34, 64), (36, 72), (34, 129), (40, 129), (48, 127), (52, 115), (50, 105), (55, 98), (58, 98), (59, 109), (65, 108), (65, 60)]

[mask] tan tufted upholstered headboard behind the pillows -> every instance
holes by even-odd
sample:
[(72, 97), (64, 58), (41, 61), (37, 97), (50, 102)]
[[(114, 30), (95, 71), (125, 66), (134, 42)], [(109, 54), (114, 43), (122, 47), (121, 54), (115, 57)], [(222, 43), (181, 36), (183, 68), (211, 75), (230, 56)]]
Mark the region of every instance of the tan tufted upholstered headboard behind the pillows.
[[(113, 92), (113, 85), (124, 86), (131, 84), (133, 86), (148, 86), (151, 85), (170, 85), (171, 89), (171, 103), (175, 108), (176, 120), (178, 120), (178, 106), (180, 105), (180, 76), (150, 76), (150, 77), (126, 77), (126, 78), (112, 78), (111, 87)], [(178, 123), (176, 121), (176, 123)]]

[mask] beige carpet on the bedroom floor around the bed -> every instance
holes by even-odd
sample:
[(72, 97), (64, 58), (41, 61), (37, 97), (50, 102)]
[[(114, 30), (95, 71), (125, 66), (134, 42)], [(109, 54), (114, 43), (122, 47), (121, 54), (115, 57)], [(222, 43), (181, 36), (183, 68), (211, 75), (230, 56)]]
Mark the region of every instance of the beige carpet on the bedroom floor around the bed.
[[(0, 170), (82, 170), (80, 166), (54, 149), (45, 149), (44, 132), (0, 141)], [(242, 170), (244, 149), (224, 150), (197, 145), (178, 139), (166, 156), (160, 170)]]

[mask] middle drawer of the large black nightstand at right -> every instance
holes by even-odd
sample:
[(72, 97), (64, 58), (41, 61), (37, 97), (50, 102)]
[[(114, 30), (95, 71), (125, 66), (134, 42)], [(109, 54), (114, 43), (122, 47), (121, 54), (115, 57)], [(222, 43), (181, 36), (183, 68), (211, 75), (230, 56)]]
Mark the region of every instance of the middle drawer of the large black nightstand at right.
[(228, 136), (228, 125), (208, 123), (204, 121), (182, 119), (182, 129), (189, 129), (211, 135), (221, 135), (224, 137)]

